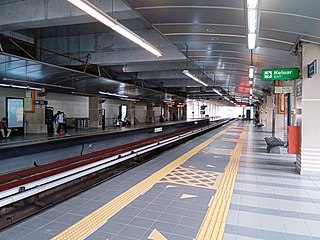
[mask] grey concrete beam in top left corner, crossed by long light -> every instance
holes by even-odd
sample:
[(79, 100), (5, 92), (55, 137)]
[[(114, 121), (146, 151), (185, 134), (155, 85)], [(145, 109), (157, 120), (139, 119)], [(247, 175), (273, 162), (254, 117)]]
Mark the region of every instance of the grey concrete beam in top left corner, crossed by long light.
[[(66, 0), (2, 2), (0, 3), (0, 16), (4, 16), (0, 22), (2, 32), (95, 22), (93, 18)], [(91, 0), (90, 2), (110, 13), (117, 20), (139, 18), (122, 1)]]

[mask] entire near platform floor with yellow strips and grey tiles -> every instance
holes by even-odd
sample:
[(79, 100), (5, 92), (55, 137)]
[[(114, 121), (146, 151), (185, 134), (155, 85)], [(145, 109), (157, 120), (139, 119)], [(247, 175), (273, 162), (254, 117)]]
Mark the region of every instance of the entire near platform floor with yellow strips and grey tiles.
[(0, 239), (320, 239), (320, 178), (236, 121), (3, 230)]

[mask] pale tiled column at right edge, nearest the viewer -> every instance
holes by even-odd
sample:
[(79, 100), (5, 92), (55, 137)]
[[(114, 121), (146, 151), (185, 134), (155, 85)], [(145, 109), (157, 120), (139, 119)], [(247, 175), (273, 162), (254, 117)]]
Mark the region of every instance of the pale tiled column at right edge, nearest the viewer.
[(320, 175), (320, 74), (308, 78), (308, 67), (320, 60), (319, 45), (302, 45), (302, 123), (301, 149), (297, 154), (296, 169), (303, 175)]

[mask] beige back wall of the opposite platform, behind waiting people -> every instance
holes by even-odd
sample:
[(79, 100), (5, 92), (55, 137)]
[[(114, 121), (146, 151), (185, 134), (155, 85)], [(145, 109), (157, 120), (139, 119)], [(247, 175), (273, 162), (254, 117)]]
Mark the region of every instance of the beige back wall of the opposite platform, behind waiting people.
[[(6, 98), (25, 98), (26, 91), (23, 89), (0, 88), (0, 117), (6, 116)], [(35, 99), (48, 101), (49, 107), (53, 107), (54, 113), (63, 111), (68, 118), (89, 118), (89, 97), (46, 92), (39, 96), (35, 93)], [(133, 103), (121, 99), (103, 99), (102, 109), (104, 109), (106, 126), (114, 125), (119, 115), (119, 107), (127, 105), (127, 118), (132, 124), (145, 123), (147, 121), (147, 104), (143, 102)], [(33, 113), (25, 113), (26, 129), (25, 133), (45, 133), (44, 105), (35, 105)], [(154, 120), (158, 121), (161, 115), (161, 106), (153, 108)]]

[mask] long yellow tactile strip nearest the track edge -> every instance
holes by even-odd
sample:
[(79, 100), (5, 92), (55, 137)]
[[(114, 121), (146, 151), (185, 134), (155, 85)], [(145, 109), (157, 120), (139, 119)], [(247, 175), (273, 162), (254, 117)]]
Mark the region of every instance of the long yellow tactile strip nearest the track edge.
[(92, 232), (97, 230), (103, 224), (105, 224), (108, 219), (110, 219), (113, 215), (118, 213), (121, 209), (127, 206), (130, 202), (140, 196), (142, 193), (153, 186), (155, 183), (159, 182), (163, 177), (165, 177), (168, 173), (172, 172), (174, 169), (179, 167), (181, 164), (185, 163), (189, 158), (197, 154), (203, 148), (208, 146), (212, 141), (216, 140), (222, 134), (224, 134), (227, 130), (229, 130), (231, 126), (222, 130), (218, 134), (214, 135), (210, 139), (204, 141), (199, 144), (189, 152), (185, 153), (181, 157), (177, 158), (172, 163), (168, 164), (158, 172), (154, 173), (150, 177), (141, 181), (139, 184), (130, 188), (128, 191), (122, 193), (118, 197), (114, 198), (101, 208), (97, 209), (90, 215), (81, 219), (79, 222), (75, 223), (68, 229), (64, 230), (62, 233), (53, 237), (52, 240), (80, 240), (89, 236)]

